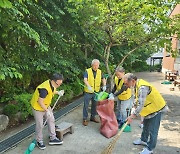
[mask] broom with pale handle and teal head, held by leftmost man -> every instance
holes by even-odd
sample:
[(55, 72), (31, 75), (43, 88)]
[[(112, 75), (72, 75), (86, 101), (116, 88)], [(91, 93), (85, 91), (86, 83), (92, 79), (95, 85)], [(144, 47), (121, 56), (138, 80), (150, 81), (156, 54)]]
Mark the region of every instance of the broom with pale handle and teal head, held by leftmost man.
[[(54, 110), (54, 108), (55, 108), (57, 102), (59, 101), (60, 97), (61, 97), (61, 96), (59, 96), (59, 97), (57, 98), (56, 102), (54, 103), (53, 108), (52, 108), (52, 111)], [(44, 124), (43, 124), (43, 127), (46, 125), (47, 120), (48, 120), (48, 118), (45, 120), (45, 122), (44, 122)], [(34, 140), (30, 143), (30, 145), (28, 146), (28, 148), (26, 149), (26, 151), (24, 152), (24, 154), (31, 154), (32, 151), (34, 150), (35, 146), (36, 146), (36, 139), (34, 139)]]

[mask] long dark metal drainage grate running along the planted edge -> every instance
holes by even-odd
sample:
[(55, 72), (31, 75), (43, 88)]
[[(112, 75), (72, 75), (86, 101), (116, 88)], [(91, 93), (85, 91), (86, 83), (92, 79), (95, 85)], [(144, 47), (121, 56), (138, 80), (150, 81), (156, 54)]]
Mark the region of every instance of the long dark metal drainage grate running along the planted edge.
[[(77, 99), (76, 101), (72, 102), (71, 104), (67, 105), (63, 109), (54, 113), (55, 119), (59, 119), (63, 115), (69, 113), (74, 108), (78, 107), (83, 102), (83, 97)], [(24, 130), (18, 132), (17, 134), (3, 140), (0, 142), (0, 153), (7, 151), (8, 149), (16, 146), (18, 143), (22, 142), (27, 137), (31, 136), (35, 132), (35, 124), (25, 128)]]

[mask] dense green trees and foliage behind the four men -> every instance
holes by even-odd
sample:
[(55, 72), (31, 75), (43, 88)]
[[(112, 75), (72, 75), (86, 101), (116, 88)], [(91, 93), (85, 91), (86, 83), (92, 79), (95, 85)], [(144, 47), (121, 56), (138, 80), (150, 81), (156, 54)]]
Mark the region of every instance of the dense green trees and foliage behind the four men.
[[(144, 61), (149, 55), (170, 43), (169, 36), (179, 35), (179, 16), (168, 17), (176, 4), (175, 0), (0, 0), (0, 103), (16, 108), (14, 100), (22, 102), (26, 95), (21, 94), (32, 94), (53, 72), (65, 76), (61, 88), (63, 101), (68, 101), (82, 93), (79, 82), (94, 58), (110, 76), (118, 65), (127, 71), (147, 70)], [(8, 107), (5, 110), (9, 112)], [(26, 101), (18, 111), (23, 119), (31, 114)]]

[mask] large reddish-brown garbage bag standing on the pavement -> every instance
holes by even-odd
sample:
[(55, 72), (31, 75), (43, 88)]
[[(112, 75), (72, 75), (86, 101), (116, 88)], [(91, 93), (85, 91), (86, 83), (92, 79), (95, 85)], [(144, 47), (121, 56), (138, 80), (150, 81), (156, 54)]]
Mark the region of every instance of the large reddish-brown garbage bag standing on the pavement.
[(100, 133), (107, 138), (116, 135), (118, 123), (114, 113), (114, 100), (99, 101), (96, 110), (101, 119)]

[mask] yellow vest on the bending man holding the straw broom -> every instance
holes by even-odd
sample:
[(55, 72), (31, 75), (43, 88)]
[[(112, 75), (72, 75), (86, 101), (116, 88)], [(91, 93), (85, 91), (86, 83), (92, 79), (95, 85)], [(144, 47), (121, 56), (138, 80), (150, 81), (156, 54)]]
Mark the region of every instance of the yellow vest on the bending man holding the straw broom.
[(141, 86), (148, 86), (150, 88), (150, 93), (147, 95), (144, 107), (140, 112), (141, 116), (148, 116), (150, 114), (160, 111), (165, 107), (166, 102), (161, 96), (161, 94), (158, 92), (158, 90), (153, 85), (142, 79), (138, 80), (136, 83), (136, 99), (138, 98), (138, 90)]

